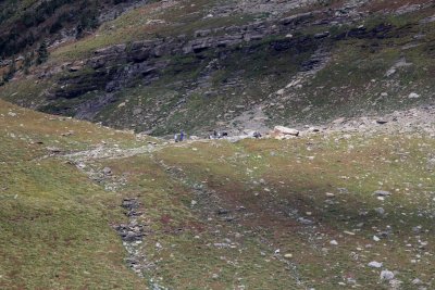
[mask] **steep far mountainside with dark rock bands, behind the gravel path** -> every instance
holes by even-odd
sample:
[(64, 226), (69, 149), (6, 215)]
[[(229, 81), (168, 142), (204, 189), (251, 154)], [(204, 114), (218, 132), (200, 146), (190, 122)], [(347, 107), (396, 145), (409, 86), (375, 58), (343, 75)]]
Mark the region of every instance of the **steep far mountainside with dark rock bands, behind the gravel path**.
[(51, 47), (0, 96), (153, 135), (323, 124), (434, 97), (433, 1), (133, 2), (107, 4), (115, 18)]

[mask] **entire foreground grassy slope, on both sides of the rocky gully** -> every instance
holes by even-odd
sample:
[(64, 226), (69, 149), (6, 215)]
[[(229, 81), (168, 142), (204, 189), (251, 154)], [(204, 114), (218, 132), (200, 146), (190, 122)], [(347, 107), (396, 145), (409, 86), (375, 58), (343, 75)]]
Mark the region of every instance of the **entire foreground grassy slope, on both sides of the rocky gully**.
[[(386, 289), (380, 270), (366, 267), (371, 261), (397, 270), (405, 288), (414, 278), (434, 282), (435, 184), (427, 160), (435, 142), (423, 134), (166, 146), (86, 162), (113, 172), (92, 184), (63, 159), (41, 159), (47, 148), (141, 143), (4, 102), (0, 110), (2, 288), (135, 289), (152, 278), (175, 289), (337, 289), (353, 279)], [(117, 193), (103, 190), (119, 179), (125, 181)], [(377, 189), (393, 196), (380, 201), (372, 194)], [(123, 265), (126, 253), (110, 228), (124, 219), (123, 197), (142, 204), (148, 229), (138, 249), (153, 265), (145, 280)], [(314, 224), (298, 223), (300, 216)], [(388, 238), (372, 240), (388, 228)]]

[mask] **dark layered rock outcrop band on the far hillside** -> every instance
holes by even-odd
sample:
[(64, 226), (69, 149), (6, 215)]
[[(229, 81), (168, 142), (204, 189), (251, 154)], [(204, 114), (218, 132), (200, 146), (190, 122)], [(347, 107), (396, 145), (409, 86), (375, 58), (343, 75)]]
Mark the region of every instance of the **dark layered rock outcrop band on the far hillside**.
[[(64, 70), (79, 76), (61, 78), (51, 98), (72, 99), (97, 89), (110, 93), (123, 89), (138, 78), (147, 84), (161, 75), (165, 68), (174, 65), (170, 58), (191, 56), (198, 58), (198, 61), (192, 62), (203, 62), (206, 58), (212, 59), (219, 54), (231, 53), (235, 49), (259, 45), (265, 38), (269, 38), (265, 41), (276, 51), (290, 47), (314, 46), (314, 39), (323, 38), (323, 35), (314, 36), (314, 39), (293, 36), (282, 41), (273, 39), (274, 37), (284, 38), (296, 27), (300, 28), (303, 24), (308, 24), (312, 17), (313, 13), (303, 13), (278, 22), (258, 22), (244, 26), (197, 30), (192, 39), (182, 35), (98, 49), (94, 51), (91, 58), (82, 60), (78, 65), (64, 64)], [(209, 53), (210, 55), (206, 55)], [(80, 75), (80, 72), (91, 73)], [(51, 76), (51, 73), (48, 75)], [(46, 73), (40, 75), (40, 78), (44, 77)]]

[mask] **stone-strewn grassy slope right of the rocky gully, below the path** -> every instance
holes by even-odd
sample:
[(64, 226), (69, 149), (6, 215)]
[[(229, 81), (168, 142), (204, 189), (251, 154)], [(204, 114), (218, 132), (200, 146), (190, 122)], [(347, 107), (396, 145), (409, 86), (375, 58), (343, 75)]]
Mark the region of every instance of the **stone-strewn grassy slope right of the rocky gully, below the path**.
[[(366, 266), (378, 261), (408, 289), (415, 277), (434, 282), (435, 185), (426, 167), (434, 146), (420, 134), (195, 142), (98, 167), (128, 176), (122, 191), (139, 198), (152, 228), (139, 249), (156, 264), (148, 275), (163, 286), (337, 289), (355, 279), (387, 289), (380, 269)], [(377, 200), (378, 189), (393, 197)], [(295, 211), (314, 225), (298, 223)], [(373, 241), (388, 228), (388, 238)]]

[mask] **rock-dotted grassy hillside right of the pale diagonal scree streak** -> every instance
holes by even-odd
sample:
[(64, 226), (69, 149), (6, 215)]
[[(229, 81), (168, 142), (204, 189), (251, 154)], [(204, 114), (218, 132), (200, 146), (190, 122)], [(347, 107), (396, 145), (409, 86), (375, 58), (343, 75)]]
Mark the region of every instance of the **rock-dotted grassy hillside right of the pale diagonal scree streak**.
[[(296, 90), (297, 98), (286, 102), (286, 110), (271, 109), (276, 122), (289, 119), (324, 123), (337, 116), (391, 112), (432, 102), (433, 42), (435, 23), (419, 22), (435, 12), (434, 8), (399, 16), (373, 16), (364, 22), (369, 29), (381, 23), (394, 25), (383, 38), (348, 39), (334, 46), (332, 61), (316, 76)], [(420, 39), (417, 39), (421, 36)], [(400, 60), (407, 66), (386, 76)], [(387, 97), (382, 97), (382, 93)], [(411, 92), (421, 98), (409, 99)], [(308, 106), (313, 110), (303, 111)]]

